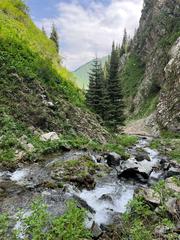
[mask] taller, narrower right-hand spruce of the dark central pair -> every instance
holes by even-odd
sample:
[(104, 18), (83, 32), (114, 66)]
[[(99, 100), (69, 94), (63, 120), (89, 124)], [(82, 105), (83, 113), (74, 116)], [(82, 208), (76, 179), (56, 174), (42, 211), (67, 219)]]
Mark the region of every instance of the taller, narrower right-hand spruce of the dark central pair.
[(108, 106), (108, 123), (112, 128), (123, 125), (124, 122), (124, 102), (119, 74), (119, 50), (113, 42), (110, 60), (108, 95), (110, 103)]

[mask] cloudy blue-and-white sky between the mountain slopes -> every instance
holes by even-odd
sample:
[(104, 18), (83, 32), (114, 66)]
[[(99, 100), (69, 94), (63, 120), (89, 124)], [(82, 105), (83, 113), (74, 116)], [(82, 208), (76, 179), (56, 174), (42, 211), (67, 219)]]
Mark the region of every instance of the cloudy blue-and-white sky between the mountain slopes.
[(133, 36), (143, 0), (26, 0), (33, 21), (50, 34), (56, 25), (64, 65), (71, 71), (110, 53), (124, 28)]

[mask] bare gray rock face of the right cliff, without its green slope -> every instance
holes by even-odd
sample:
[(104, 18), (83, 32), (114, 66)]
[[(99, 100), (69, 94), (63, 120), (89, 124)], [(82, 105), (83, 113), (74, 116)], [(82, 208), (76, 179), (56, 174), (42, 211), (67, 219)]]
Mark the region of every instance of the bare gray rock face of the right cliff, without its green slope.
[[(180, 131), (180, 38), (170, 44), (166, 39), (179, 31), (179, 6), (179, 0), (145, 0), (133, 41), (133, 49), (144, 63), (145, 71), (135, 96), (131, 97), (131, 107), (138, 113), (149, 97), (157, 96), (155, 122), (173, 131)], [(169, 23), (177, 27), (171, 30)]]

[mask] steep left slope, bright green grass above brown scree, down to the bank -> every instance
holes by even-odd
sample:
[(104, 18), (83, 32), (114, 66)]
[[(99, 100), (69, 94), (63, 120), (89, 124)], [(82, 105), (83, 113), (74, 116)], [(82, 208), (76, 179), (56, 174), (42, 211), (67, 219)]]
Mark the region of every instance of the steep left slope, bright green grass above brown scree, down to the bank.
[(52, 131), (105, 141), (106, 131), (86, 110), (54, 43), (21, 0), (0, 1), (0, 42), (0, 162), (22, 149), (23, 135), (37, 148), (37, 136)]

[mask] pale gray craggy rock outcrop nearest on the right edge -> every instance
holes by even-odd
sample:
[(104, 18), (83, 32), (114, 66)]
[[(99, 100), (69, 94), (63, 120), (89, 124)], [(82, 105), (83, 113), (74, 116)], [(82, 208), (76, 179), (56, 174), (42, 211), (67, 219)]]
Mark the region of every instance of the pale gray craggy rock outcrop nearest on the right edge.
[(165, 84), (163, 85), (157, 107), (157, 120), (172, 131), (180, 131), (180, 37), (169, 52), (169, 62), (166, 65)]

